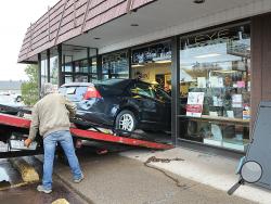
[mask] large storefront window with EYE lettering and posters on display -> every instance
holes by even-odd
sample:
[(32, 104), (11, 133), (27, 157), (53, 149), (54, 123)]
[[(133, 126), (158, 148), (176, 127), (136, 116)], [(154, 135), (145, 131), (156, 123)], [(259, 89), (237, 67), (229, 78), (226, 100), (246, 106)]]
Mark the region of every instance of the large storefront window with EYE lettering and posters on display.
[(250, 118), (249, 25), (180, 41), (180, 137), (244, 151)]

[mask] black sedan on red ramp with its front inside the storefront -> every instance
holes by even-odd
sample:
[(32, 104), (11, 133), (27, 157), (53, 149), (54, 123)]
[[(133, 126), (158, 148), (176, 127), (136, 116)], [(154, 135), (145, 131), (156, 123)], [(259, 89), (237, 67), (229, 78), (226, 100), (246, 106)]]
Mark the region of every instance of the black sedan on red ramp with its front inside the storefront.
[(138, 79), (70, 82), (60, 92), (77, 104), (77, 116), (127, 131), (170, 130), (170, 97)]

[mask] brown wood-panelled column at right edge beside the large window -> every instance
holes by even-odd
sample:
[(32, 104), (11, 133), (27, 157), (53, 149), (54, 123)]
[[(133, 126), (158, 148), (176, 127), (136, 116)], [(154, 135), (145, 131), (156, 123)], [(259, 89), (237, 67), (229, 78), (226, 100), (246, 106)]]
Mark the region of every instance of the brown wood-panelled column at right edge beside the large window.
[[(271, 13), (251, 17), (251, 120), (250, 132), (260, 101), (271, 100)], [(251, 135), (250, 135), (251, 137)], [(250, 138), (251, 139), (251, 138)]]

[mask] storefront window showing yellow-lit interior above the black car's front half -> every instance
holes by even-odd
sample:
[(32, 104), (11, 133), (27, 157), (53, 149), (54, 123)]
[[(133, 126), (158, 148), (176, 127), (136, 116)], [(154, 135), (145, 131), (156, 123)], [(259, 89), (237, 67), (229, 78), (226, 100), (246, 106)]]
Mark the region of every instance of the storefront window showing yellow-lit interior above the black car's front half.
[(159, 85), (171, 90), (171, 44), (170, 41), (150, 44), (132, 50), (132, 78)]

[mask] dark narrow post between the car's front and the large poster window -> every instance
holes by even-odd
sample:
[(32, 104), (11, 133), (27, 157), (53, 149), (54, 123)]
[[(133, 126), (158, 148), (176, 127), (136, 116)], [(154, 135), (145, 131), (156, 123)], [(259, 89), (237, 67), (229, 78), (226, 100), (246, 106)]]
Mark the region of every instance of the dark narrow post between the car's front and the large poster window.
[(172, 144), (177, 145), (180, 131), (179, 118), (180, 113), (180, 54), (179, 54), (179, 37), (175, 36), (171, 39), (172, 49), (172, 67), (171, 67), (171, 140)]

